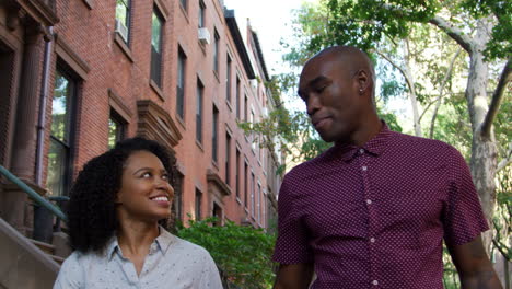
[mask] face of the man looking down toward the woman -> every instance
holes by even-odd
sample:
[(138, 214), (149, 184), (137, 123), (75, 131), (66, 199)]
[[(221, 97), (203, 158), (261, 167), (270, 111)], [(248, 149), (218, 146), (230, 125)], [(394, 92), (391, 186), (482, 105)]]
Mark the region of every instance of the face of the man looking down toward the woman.
[(349, 142), (362, 117), (359, 85), (339, 56), (325, 54), (311, 59), (302, 70), (299, 95), (322, 139)]

